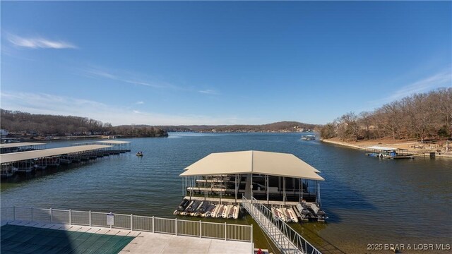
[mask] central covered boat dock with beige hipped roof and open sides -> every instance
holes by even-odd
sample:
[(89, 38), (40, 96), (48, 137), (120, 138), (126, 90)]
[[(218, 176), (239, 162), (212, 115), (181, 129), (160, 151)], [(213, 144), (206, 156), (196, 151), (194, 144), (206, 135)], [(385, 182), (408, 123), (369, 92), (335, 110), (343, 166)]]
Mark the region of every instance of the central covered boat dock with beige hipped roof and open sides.
[(266, 201), (319, 202), (320, 171), (295, 155), (241, 151), (212, 153), (185, 168), (183, 191), (187, 198), (242, 200), (242, 195)]

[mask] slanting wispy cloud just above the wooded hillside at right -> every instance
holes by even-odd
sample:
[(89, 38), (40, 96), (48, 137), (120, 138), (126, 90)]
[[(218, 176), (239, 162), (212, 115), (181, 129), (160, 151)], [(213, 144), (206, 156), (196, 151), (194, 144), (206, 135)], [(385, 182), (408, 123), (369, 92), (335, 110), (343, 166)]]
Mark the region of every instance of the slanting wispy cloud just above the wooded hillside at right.
[(397, 99), (402, 99), (403, 97), (412, 95), (413, 93), (428, 92), (429, 90), (432, 90), (434, 88), (444, 86), (452, 86), (451, 68), (448, 68), (446, 71), (441, 71), (439, 73), (431, 75), (428, 78), (423, 78), (422, 80), (418, 80), (414, 83), (404, 85), (399, 89), (391, 91), (391, 95), (388, 95), (387, 97), (384, 97), (382, 99), (373, 100), (369, 103), (373, 105), (381, 105), (395, 101)]

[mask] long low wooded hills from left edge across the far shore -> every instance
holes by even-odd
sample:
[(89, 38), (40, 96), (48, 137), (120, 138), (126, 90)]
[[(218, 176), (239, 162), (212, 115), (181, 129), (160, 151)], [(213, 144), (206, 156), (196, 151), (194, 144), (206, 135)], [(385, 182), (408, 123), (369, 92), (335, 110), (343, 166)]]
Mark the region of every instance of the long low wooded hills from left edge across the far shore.
[(191, 125), (191, 126), (112, 126), (81, 116), (55, 116), (1, 110), (1, 128), (18, 135), (124, 135), (131, 137), (167, 136), (169, 131), (194, 132), (297, 132), (318, 130), (320, 125), (280, 121), (262, 125)]

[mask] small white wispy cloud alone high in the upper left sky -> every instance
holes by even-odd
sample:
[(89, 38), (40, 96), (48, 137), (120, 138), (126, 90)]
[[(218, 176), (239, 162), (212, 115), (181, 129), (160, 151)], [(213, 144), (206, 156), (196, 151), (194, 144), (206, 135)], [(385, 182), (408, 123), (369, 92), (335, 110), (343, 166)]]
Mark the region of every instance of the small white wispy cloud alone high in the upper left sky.
[(49, 40), (43, 37), (20, 37), (18, 35), (8, 35), (8, 41), (18, 47), (30, 49), (76, 49), (76, 45), (61, 40)]

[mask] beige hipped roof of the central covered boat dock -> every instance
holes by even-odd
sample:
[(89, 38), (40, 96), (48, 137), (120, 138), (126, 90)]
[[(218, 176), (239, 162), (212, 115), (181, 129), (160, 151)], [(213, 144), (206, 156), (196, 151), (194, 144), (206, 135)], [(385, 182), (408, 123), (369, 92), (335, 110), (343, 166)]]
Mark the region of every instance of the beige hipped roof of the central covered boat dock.
[(263, 174), (324, 181), (319, 170), (295, 155), (281, 152), (240, 151), (218, 152), (185, 168), (180, 176), (221, 174)]

